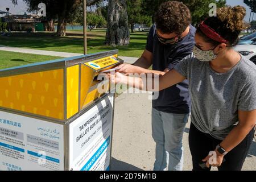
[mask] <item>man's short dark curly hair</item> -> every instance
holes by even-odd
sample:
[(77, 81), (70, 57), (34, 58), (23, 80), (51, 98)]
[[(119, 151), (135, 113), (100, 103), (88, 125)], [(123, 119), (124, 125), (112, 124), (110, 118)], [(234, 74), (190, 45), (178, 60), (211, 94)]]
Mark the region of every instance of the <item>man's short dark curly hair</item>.
[(178, 1), (167, 1), (155, 14), (156, 28), (163, 34), (182, 34), (191, 24), (191, 14), (186, 5)]

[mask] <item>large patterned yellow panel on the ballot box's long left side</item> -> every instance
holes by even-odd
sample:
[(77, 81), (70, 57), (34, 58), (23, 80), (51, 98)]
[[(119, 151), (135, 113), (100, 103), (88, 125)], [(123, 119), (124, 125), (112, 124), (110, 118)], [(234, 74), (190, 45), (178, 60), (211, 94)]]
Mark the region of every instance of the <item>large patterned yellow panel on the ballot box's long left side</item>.
[(0, 78), (0, 107), (64, 119), (63, 69)]

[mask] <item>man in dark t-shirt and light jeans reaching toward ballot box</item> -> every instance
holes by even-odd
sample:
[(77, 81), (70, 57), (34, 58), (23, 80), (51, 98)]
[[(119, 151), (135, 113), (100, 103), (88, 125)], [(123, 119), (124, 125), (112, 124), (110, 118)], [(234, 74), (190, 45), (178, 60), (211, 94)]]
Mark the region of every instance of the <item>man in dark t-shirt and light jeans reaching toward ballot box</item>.
[[(177, 1), (162, 3), (155, 14), (155, 24), (150, 29), (141, 58), (133, 65), (120, 65), (118, 72), (164, 75), (192, 53), (195, 31), (187, 6)], [(151, 65), (152, 70), (148, 69)], [(191, 107), (188, 81), (159, 92), (152, 107), (152, 137), (156, 142), (154, 170), (181, 171), (182, 138)]]

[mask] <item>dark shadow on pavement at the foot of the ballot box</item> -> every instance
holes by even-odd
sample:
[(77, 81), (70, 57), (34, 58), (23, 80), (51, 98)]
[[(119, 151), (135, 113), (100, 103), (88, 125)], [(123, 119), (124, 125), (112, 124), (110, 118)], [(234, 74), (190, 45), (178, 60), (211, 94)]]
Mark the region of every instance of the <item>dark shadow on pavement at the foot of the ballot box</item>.
[(112, 158), (111, 160), (111, 171), (143, 171), (143, 169), (135, 167), (131, 164), (122, 162), (121, 160), (117, 160)]

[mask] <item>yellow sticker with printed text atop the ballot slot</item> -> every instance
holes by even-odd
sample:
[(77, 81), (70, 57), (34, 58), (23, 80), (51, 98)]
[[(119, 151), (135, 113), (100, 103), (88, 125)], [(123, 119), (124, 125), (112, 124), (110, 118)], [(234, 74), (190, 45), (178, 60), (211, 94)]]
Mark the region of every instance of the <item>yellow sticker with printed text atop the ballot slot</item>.
[(85, 65), (88, 65), (88, 67), (94, 69), (94, 70), (99, 70), (99, 69), (103, 69), (106, 67), (109, 67), (113, 64), (119, 63), (119, 61), (117, 60), (117, 57), (115, 56), (109, 56), (109, 57), (104, 57), (102, 59), (97, 59), (94, 61), (90, 61), (88, 63), (85, 63)]

